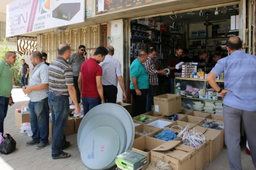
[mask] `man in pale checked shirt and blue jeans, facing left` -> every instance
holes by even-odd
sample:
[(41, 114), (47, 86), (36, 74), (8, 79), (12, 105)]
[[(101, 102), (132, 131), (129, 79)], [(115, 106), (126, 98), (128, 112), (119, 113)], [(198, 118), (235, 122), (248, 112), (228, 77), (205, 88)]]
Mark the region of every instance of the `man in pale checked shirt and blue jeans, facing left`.
[(48, 66), (44, 64), (39, 51), (31, 53), (30, 61), (34, 69), (28, 86), (23, 87), (23, 92), (30, 98), (28, 107), (33, 135), (32, 140), (25, 145), (38, 144), (35, 149), (42, 149), (49, 144)]

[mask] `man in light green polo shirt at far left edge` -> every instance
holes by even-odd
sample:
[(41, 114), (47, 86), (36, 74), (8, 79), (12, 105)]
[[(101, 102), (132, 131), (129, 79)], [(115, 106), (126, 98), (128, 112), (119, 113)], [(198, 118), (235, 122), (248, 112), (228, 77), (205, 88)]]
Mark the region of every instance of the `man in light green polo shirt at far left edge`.
[(4, 60), (0, 61), (0, 133), (3, 134), (3, 121), (7, 114), (8, 104), (12, 103), (12, 73), (11, 64), (16, 61), (15, 52), (8, 51), (5, 53)]

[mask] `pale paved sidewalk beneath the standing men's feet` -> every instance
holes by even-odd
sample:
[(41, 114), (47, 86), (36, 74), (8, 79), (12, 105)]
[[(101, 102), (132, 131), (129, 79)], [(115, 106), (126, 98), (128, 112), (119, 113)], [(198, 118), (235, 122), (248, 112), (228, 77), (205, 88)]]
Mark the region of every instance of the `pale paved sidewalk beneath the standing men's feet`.
[[(52, 160), (51, 144), (47, 147), (36, 150), (35, 145), (26, 147), (25, 142), (31, 138), (26, 134), (21, 134), (19, 128), (14, 123), (14, 110), (22, 105), (27, 105), (28, 98), (24, 96), (22, 90), (13, 89), (12, 97), (14, 105), (8, 108), (8, 113), (4, 121), (4, 133), (9, 133), (16, 141), (16, 151), (9, 155), (0, 154), (0, 170), (87, 170), (80, 159), (80, 153), (77, 148), (76, 134), (66, 137), (71, 142), (71, 146), (65, 150), (71, 154), (68, 159)], [(51, 141), (49, 141), (51, 143)], [(254, 170), (250, 156), (244, 154), (244, 148), (241, 151), (243, 170)], [(205, 170), (228, 170), (226, 148)]]

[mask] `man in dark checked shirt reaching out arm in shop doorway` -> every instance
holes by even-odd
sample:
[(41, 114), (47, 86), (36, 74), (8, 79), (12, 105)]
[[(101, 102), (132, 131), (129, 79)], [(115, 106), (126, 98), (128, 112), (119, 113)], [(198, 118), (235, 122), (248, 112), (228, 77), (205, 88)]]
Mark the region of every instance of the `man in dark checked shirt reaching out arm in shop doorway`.
[(157, 54), (156, 49), (149, 49), (147, 60), (143, 63), (149, 77), (149, 89), (146, 95), (146, 112), (150, 112), (152, 110), (154, 86), (158, 86), (157, 74), (166, 73), (165, 70), (156, 70), (153, 62), (156, 57), (156, 54)]

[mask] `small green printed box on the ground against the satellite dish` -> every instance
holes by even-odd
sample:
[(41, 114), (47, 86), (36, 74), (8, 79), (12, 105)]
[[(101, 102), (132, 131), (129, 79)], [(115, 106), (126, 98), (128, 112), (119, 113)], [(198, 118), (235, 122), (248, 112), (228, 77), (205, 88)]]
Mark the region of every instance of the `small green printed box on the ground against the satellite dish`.
[(125, 170), (139, 170), (146, 164), (146, 156), (128, 150), (115, 158), (115, 164), (119, 168)]

